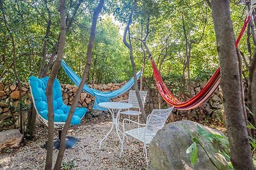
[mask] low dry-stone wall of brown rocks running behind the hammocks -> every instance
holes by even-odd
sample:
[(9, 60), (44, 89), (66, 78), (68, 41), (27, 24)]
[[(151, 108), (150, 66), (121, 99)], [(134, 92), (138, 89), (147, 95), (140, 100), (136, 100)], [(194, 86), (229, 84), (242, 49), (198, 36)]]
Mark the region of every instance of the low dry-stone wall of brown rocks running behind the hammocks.
[[(100, 90), (102, 92), (110, 92), (112, 90), (120, 89), (124, 83), (108, 83), (103, 85), (90, 85), (93, 89)], [(201, 83), (193, 83), (193, 95), (199, 92), (202, 87), (204, 87), (206, 81), (202, 81)], [(29, 85), (28, 83), (22, 84), (22, 104), (24, 108), (24, 113), (27, 113), (29, 104), (31, 103), (31, 94), (29, 91)], [(77, 87), (74, 85), (64, 85), (61, 84), (61, 90), (63, 92), (63, 102), (67, 105), (71, 105), (74, 101), (74, 97), (77, 93)], [(148, 92), (146, 104), (145, 104), (145, 110), (147, 113), (150, 112), (153, 108), (158, 109), (159, 108), (159, 96), (157, 89), (145, 89)], [(122, 94), (121, 96), (115, 97), (112, 99), (112, 101), (122, 101), (125, 99), (128, 99), (129, 92), (125, 92), (125, 94)], [(93, 108), (95, 97), (91, 96), (90, 94), (82, 93), (78, 107), (86, 107), (89, 109), (89, 111)], [(188, 111), (173, 111), (173, 115), (175, 119), (181, 119), (182, 117), (188, 117), (189, 113), (189, 119), (195, 119), (200, 120), (205, 115), (208, 115), (209, 117), (212, 117), (212, 115), (215, 115), (218, 118), (221, 118), (221, 115), (223, 113), (223, 106), (222, 106), (222, 96), (219, 89), (214, 92), (211, 99), (207, 103), (204, 103), (202, 107), (196, 108), (195, 110), (192, 110), (191, 112)], [(5, 125), (13, 124), (17, 118), (19, 117), (18, 112), (18, 106), (19, 106), (19, 88), (17, 85), (10, 85), (8, 86), (8, 83), (0, 83), (0, 127), (3, 127)], [(166, 108), (166, 103), (162, 99), (161, 101), (161, 108)]]

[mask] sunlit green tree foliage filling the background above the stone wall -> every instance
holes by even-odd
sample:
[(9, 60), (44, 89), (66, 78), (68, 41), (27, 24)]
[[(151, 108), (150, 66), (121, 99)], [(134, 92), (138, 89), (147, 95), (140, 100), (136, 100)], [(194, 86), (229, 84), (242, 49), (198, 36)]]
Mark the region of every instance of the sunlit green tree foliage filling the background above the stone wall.
[[(92, 67), (87, 83), (115, 83), (126, 81), (132, 76), (129, 51), (122, 42), (124, 25), (131, 11), (132, 0), (108, 0), (104, 11), (100, 14), (93, 44)], [(45, 1), (4, 1), (4, 11), (0, 13), (0, 74), (7, 71), (3, 80), (13, 83), (15, 76), (12, 69), (13, 45), (10, 35), (14, 36), (17, 55), (17, 71), (20, 80), (28, 81), (29, 76), (38, 76), (42, 64), (42, 49), (44, 40), (47, 40), (47, 61), (54, 51), (60, 32), (60, 14), (58, 1), (47, 1), (51, 13), (51, 29), (45, 37), (48, 11)], [(67, 31), (67, 43), (63, 59), (74, 71), (81, 76), (86, 64), (86, 50), (90, 37), (92, 13), (97, 1), (84, 1), (74, 18), (72, 27)], [(241, 13), (244, 4), (231, 3), (232, 20), (236, 34), (243, 25), (244, 14)], [(67, 19), (76, 9), (75, 1), (67, 1)], [(188, 42), (192, 43), (190, 57), (190, 78), (192, 81), (208, 80), (218, 67), (218, 53), (216, 39), (211, 18), (211, 9), (206, 1), (138, 1), (132, 25), (130, 28), (131, 45), (136, 62), (136, 71), (146, 58), (143, 76), (148, 80), (147, 86), (154, 87), (152, 67), (147, 60), (145, 47), (141, 47), (139, 39), (145, 38), (149, 18), (147, 45), (152, 57), (161, 65), (161, 74), (174, 94), (180, 94), (182, 87), (182, 70), (185, 55), (186, 41), (182, 24)], [(6, 29), (4, 16), (10, 32)], [(246, 38), (241, 40), (239, 48), (246, 48)], [(47, 62), (45, 63), (45, 65)], [(187, 71), (187, 69), (186, 69)], [(186, 78), (188, 75), (186, 73)], [(61, 83), (72, 83), (62, 69), (58, 73)], [(152, 81), (151, 81), (152, 80)], [(186, 82), (188, 84), (188, 81)]]

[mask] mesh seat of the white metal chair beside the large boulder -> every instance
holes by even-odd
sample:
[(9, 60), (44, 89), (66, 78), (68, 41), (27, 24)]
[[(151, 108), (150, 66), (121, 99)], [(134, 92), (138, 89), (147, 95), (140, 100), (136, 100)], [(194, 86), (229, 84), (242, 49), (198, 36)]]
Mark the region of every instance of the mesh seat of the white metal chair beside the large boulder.
[(133, 138), (136, 138), (139, 141), (146, 143), (147, 145), (152, 141), (152, 139), (156, 135), (154, 132), (145, 129), (145, 127), (125, 131), (125, 134), (128, 134), (129, 136), (132, 136)]

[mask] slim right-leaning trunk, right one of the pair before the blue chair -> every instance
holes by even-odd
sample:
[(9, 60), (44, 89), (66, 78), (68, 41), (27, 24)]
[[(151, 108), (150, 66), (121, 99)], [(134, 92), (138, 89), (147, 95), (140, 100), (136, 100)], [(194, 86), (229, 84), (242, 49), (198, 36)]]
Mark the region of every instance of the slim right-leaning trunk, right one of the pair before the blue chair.
[(66, 136), (67, 136), (68, 128), (70, 126), (70, 122), (74, 115), (74, 111), (76, 110), (77, 103), (80, 99), (81, 92), (83, 91), (84, 82), (87, 79), (87, 76), (88, 76), (88, 73), (90, 70), (90, 66), (92, 65), (92, 49), (93, 49), (93, 42), (95, 39), (95, 30), (96, 30), (96, 25), (97, 25), (97, 19), (102, 10), (103, 4), (104, 4), (104, 0), (100, 0), (99, 5), (97, 6), (97, 8), (95, 8), (95, 10), (93, 12), (92, 27), (91, 27), (90, 39), (89, 39), (88, 48), (87, 48), (86, 66), (84, 68), (83, 76), (81, 78), (81, 82), (79, 84), (76, 97), (74, 98), (74, 101), (73, 101), (70, 111), (68, 113), (67, 120), (65, 122), (65, 125), (64, 125), (62, 133), (61, 133), (60, 150), (58, 152), (58, 157), (56, 160), (56, 164), (54, 166), (55, 170), (58, 170), (61, 168), (61, 162), (62, 162), (65, 148), (66, 148)]

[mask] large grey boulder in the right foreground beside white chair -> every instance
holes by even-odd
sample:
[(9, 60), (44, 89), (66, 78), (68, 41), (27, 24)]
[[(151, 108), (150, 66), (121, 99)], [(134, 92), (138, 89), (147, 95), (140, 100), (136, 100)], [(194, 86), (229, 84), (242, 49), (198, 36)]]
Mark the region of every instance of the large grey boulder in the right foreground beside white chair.
[[(204, 148), (211, 157), (207, 157), (204, 149), (198, 146), (198, 159), (193, 166), (190, 163), (191, 153), (186, 153), (186, 150), (193, 143), (189, 131), (195, 134), (198, 123), (189, 120), (180, 120), (166, 125), (159, 130), (156, 136), (150, 143), (148, 157), (150, 164), (148, 169), (216, 169), (211, 160), (219, 169), (227, 169), (225, 158), (214, 150), (220, 150), (221, 145), (217, 143), (204, 141)], [(214, 134), (222, 134), (220, 131), (200, 125), (205, 131), (210, 131)], [(189, 131), (184, 127), (188, 127)], [(195, 136), (195, 135), (194, 135)]]

